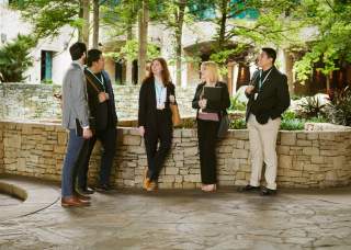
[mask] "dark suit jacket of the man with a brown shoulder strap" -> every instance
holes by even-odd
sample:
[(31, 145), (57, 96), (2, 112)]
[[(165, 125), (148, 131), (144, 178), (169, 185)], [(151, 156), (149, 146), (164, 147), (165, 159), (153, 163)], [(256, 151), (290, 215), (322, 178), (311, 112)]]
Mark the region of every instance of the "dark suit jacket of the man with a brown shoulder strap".
[[(86, 76), (89, 76), (89, 72), (87, 72), (87, 70), (84, 70), (84, 72), (86, 72)], [(111, 79), (105, 71), (102, 71), (102, 76), (105, 80), (105, 89), (110, 98), (110, 100), (103, 103), (99, 102), (98, 91), (91, 86), (90, 82), (88, 82), (88, 79), (87, 79), (89, 111), (90, 111), (90, 116), (94, 117), (93, 128), (97, 130), (104, 130), (109, 127), (109, 125), (111, 127), (112, 126), (115, 127), (117, 124), (117, 114), (116, 114), (116, 107), (114, 103), (114, 93), (113, 93)], [(95, 83), (95, 81), (93, 81), (93, 83)], [(101, 84), (95, 83), (94, 86), (99, 89), (99, 91), (103, 91), (103, 88)]]

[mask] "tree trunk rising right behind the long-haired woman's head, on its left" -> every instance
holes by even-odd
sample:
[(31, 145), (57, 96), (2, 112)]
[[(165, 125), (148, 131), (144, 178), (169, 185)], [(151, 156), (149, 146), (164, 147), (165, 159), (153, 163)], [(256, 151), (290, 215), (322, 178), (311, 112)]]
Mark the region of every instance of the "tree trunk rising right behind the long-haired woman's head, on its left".
[(143, 0), (143, 8), (139, 11), (139, 52), (138, 52), (138, 83), (141, 83), (146, 76), (147, 60), (147, 29), (148, 29), (148, 0)]

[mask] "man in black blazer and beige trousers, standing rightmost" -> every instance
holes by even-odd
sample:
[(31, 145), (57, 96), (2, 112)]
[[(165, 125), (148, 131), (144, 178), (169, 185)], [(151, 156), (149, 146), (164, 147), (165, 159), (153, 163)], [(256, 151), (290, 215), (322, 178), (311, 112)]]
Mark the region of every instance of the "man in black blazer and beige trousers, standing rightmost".
[(252, 167), (250, 184), (242, 191), (260, 189), (264, 162), (267, 186), (261, 189), (262, 195), (276, 193), (276, 136), (281, 114), (290, 106), (287, 79), (275, 68), (275, 58), (276, 52), (273, 48), (262, 48), (258, 58), (258, 66), (261, 69), (253, 73), (252, 84), (246, 89), (246, 95), (249, 99), (246, 121), (249, 129)]

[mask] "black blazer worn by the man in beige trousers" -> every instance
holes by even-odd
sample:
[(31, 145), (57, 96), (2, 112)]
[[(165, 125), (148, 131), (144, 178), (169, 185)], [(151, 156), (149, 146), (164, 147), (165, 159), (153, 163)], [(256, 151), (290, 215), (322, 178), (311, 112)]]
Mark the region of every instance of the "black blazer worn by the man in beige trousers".
[[(257, 122), (265, 124), (269, 118), (275, 120), (290, 106), (290, 94), (287, 78), (274, 66), (271, 73), (259, 90), (260, 70), (252, 77), (254, 89), (251, 94), (247, 94), (249, 102), (246, 111), (246, 121), (250, 113), (254, 114)], [(254, 93), (258, 93), (254, 100)]]

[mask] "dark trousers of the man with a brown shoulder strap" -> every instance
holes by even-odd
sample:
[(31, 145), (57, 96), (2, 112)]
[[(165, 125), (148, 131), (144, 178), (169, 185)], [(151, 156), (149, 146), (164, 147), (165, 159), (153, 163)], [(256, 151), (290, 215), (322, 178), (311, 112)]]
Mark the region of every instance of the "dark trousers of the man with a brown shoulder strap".
[(87, 157), (82, 158), (81, 167), (79, 169), (78, 185), (80, 189), (87, 188), (89, 160), (91, 152), (94, 148), (97, 139), (101, 141), (102, 155), (100, 163), (100, 185), (110, 184), (111, 169), (113, 164), (113, 158), (116, 149), (116, 128), (111, 127), (105, 130), (97, 130), (97, 133), (88, 140), (87, 144)]

